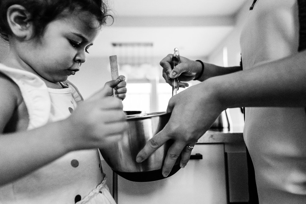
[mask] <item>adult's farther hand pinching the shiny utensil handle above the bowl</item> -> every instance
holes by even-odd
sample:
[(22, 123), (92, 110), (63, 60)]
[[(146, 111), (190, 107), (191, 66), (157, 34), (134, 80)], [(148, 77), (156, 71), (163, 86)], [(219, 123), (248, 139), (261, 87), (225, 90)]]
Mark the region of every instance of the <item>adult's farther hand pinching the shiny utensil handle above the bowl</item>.
[(180, 57), (181, 63), (176, 65), (172, 70), (171, 68), (172, 54), (168, 54), (165, 58), (160, 61), (162, 66), (162, 76), (170, 85), (172, 84), (172, 79), (177, 78), (179, 80), (179, 87), (188, 87), (188, 83), (183, 83), (182, 81), (190, 81), (195, 79), (202, 70), (202, 65), (198, 61), (192, 61), (186, 57)]

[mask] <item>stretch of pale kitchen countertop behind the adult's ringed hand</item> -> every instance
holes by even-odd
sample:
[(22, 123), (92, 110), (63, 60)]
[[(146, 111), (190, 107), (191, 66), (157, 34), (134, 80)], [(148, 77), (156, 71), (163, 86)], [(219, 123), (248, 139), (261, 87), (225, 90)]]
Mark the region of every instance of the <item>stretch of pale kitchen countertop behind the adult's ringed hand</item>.
[(200, 137), (197, 143), (244, 143), (243, 127), (211, 128)]

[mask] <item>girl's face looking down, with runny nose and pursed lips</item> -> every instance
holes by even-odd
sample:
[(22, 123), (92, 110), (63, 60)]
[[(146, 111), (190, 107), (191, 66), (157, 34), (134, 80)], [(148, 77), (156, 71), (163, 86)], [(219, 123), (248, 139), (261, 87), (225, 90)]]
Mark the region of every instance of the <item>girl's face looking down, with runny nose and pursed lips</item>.
[(99, 22), (91, 13), (69, 14), (47, 24), (43, 35), (31, 39), (20, 57), (28, 71), (50, 82), (65, 81), (79, 70), (79, 62), (85, 62), (85, 52), (99, 32)]

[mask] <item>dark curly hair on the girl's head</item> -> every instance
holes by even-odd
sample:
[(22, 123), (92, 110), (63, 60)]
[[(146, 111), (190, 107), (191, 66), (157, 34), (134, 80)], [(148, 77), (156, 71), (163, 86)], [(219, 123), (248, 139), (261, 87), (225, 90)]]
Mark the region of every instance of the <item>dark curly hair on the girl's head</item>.
[(6, 12), (9, 6), (18, 4), (31, 14), (35, 24), (34, 35), (41, 35), (44, 28), (52, 20), (63, 14), (63, 11), (72, 13), (75, 10), (88, 11), (99, 21), (100, 26), (106, 24), (106, 18), (113, 16), (108, 13), (108, 5), (103, 0), (1, 0), (0, 1), (0, 35), (8, 41), (12, 31), (7, 22)]

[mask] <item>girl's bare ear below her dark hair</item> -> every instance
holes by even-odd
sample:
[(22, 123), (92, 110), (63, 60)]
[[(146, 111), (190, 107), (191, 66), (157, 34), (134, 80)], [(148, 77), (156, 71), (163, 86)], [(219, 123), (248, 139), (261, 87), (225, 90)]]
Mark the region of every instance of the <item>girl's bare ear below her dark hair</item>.
[(27, 9), (21, 5), (14, 4), (7, 9), (6, 17), (15, 37), (31, 39), (34, 25), (31, 21), (31, 14)]

